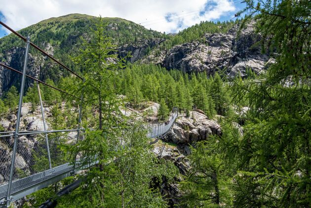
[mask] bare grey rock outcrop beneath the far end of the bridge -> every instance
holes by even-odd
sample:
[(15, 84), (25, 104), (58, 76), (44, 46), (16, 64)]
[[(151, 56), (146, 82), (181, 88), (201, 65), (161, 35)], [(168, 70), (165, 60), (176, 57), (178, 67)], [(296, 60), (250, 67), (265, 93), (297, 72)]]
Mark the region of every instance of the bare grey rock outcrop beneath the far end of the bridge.
[[(187, 157), (191, 154), (190, 146), (196, 141), (208, 139), (210, 135), (221, 135), (221, 127), (216, 121), (195, 111), (191, 112), (189, 118), (182, 114), (167, 136), (154, 145), (153, 151), (158, 158), (172, 161), (180, 174), (185, 175), (191, 168)], [(160, 185), (161, 192), (167, 197), (171, 207), (178, 205), (179, 198), (182, 196), (177, 183), (181, 180), (177, 178), (176, 183), (173, 184), (166, 183), (164, 180)]]

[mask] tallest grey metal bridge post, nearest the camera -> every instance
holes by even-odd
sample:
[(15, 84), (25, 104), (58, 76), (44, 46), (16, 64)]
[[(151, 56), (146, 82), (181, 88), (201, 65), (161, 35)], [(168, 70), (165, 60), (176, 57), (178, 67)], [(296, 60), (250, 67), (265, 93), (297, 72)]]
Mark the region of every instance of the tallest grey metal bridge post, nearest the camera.
[(19, 123), (21, 119), (21, 110), (23, 104), (23, 94), (25, 88), (25, 78), (26, 78), (26, 70), (27, 70), (27, 63), (28, 63), (28, 52), (30, 46), (30, 37), (27, 37), (26, 43), (26, 50), (25, 50), (25, 59), (24, 59), (24, 66), (23, 66), (23, 75), (21, 80), (21, 88), (19, 94), (19, 102), (18, 102), (18, 111), (17, 111), (17, 119), (16, 119), (16, 126), (15, 126), (15, 134), (14, 134), (14, 145), (13, 145), (13, 152), (12, 152), (12, 159), (11, 159), (11, 166), (10, 166), (10, 175), (9, 181), (7, 186), (7, 195), (6, 195), (6, 206), (8, 207), (11, 202), (11, 186), (12, 186), (12, 179), (14, 173), (14, 164), (15, 164), (15, 156), (16, 156), (16, 149), (17, 149), (17, 142), (18, 142), (18, 131), (19, 131)]

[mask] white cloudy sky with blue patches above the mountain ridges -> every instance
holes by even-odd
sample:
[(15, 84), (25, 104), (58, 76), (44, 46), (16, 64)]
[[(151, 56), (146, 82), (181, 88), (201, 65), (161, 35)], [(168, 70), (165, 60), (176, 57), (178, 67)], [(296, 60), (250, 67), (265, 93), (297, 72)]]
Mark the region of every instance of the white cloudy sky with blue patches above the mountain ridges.
[[(0, 0), (0, 20), (20, 30), (71, 13), (121, 17), (156, 31), (174, 33), (200, 21), (225, 21), (242, 0)], [(8, 31), (0, 26), (0, 37)]]

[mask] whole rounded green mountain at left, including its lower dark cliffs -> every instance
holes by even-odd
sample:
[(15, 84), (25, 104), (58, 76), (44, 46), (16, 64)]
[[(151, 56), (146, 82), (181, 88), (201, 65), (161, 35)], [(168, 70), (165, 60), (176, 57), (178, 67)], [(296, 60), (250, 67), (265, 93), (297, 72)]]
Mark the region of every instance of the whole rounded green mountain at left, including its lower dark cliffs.
[[(25, 37), (29, 35), (32, 42), (78, 72), (79, 66), (72, 63), (71, 57), (79, 53), (82, 43), (80, 37), (85, 40), (90, 38), (97, 18), (85, 14), (69, 14), (43, 20), (18, 32)], [(125, 19), (108, 17), (103, 19), (107, 23), (106, 35), (112, 39), (117, 47), (138, 45), (135, 48), (122, 48), (123, 54), (128, 51), (133, 53), (141, 45), (147, 48), (147, 45), (151, 44), (150, 42), (155, 42), (153, 40), (164, 40), (167, 37), (165, 34), (147, 30), (143, 26)], [(25, 43), (14, 34), (1, 38), (0, 61), (20, 70), (23, 62), (23, 47), (25, 47)], [(34, 48), (31, 48), (30, 54), (30, 75), (42, 80), (50, 78), (53, 81), (69, 75)], [(6, 91), (11, 85), (18, 86), (19, 77), (14, 73), (0, 70), (0, 77), (3, 78), (3, 81), (1, 79), (0, 82), (2, 90)]]

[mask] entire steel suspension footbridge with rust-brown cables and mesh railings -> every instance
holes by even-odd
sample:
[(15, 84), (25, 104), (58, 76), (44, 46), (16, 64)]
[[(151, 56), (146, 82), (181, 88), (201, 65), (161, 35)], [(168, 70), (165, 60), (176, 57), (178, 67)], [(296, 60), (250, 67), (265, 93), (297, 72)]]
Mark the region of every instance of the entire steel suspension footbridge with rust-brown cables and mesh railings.
[[(49, 57), (63, 69), (68, 70), (79, 79), (83, 80), (83, 78), (31, 42), (29, 37), (23, 37), (1, 21), (0, 24), (26, 42), (22, 71), (0, 63), (3, 70), (11, 70), (21, 74), (22, 76), (15, 131), (0, 132), (0, 176), (3, 177), (2, 182), (0, 181), (0, 208), (4, 208), (8, 207), (13, 201), (21, 199), (22, 197), (47, 187), (48, 185), (51, 185), (65, 177), (76, 174), (78, 170), (86, 168), (86, 166), (79, 163), (78, 157), (76, 157), (74, 162), (60, 160), (59, 154), (61, 154), (61, 151), (55, 143), (57, 139), (55, 140), (50, 138), (51, 134), (76, 132), (76, 141), (78, 141), (78, 139), (83, 139), (83, 132), (85, 132), (85, 129), (81, 126), (82, 108), (78, 108), (78, 125), (76, 129), (48, 130), (44, 117), (44, 108), (39, 83), (65, 93), (68, 96), (74, 96), (75, 98), (78, 97), (27, 75), (27, 62), (30, 47), (33, 46), (44, 56)], [(44, 130), (20, 131), (21, 110), (26, 78), (37, 83)], [(159, 138), (162, 138), (170, 131), (177, 116), (178, 109), (174, 108), (168, 122), (147, 126), (149, 129), (147, 137), (154, 139), (150, 142), (150, 144), (156, 143)], [(21, 139), (22, 136), (33, 139), (36, 138), (39, 142), (37, 142), (36, 146), (29, 147), (29, 144), (27, 144), (27, 142), (23, 142)], [(22, 156), (26, 160), (26, 167), (21, 165)], [(34, 158), (39, 158), (40, 160), (34, 160)]]

